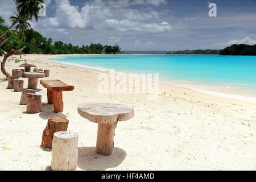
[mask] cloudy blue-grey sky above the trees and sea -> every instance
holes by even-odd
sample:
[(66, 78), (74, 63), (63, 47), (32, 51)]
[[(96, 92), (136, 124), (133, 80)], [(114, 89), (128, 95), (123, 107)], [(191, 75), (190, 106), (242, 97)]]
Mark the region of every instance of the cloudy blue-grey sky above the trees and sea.
[[(46, 16), (32, 28), (53, 41), (123, 50), (177, 51), (256, 44), (256, 0), (45, 0)], [(209, 3), (216, 3), (211, 17)], [(9, 25), (12, 0), (0, 0)]]

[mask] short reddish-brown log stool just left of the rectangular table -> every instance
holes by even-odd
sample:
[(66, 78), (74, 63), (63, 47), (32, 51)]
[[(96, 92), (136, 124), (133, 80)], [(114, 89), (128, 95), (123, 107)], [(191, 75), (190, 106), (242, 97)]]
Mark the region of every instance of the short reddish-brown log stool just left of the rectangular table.
[(35, 93), (27, 94), (27, 113), (34, 114), (42, 111), (42, 96)]

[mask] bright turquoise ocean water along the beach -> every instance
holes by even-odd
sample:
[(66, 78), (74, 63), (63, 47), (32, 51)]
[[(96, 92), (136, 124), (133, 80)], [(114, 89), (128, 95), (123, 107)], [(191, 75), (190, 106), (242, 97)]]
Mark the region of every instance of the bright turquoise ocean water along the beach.
[(55, 61), (121, 72), (159, 73), (160, 81), (167, 84), (222, 96), (256, 98), (256, 56), (85, 55)]

